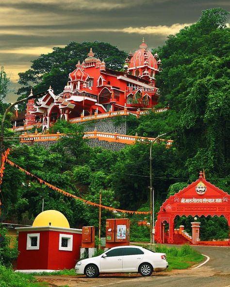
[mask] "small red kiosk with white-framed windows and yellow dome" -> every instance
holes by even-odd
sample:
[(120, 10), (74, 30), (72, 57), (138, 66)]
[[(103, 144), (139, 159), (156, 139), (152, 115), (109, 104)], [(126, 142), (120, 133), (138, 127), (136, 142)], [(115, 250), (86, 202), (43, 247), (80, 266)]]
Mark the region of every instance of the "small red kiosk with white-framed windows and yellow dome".
[(43, 272), (74, 268), (80, 258), (82, 229), (70, 228), (57, 210), (37, 215), (33, 226), (18, 227), (16, 271)]

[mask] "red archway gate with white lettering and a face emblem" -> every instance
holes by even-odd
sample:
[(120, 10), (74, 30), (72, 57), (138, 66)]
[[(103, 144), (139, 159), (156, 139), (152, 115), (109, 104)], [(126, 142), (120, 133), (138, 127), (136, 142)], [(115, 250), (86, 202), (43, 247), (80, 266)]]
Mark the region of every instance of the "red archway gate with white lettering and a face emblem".
[[(200, 172), (195, 182), (171, 195), (161, 206), (155, 223), (155, 240), (158, 243), (174, 243), (174, 220), (177, 215), (224, 216), (230, 229), (230, 195), (207, 181)], [(164, 242), (165, 222), (169, 225), (167, 242)]]

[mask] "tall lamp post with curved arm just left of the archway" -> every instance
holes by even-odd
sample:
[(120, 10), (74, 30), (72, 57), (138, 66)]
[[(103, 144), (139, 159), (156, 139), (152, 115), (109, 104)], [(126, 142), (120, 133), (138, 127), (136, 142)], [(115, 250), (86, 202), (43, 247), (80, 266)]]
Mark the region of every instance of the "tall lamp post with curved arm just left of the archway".
[(159, 138), (164, 137), (168, 134), (177, 131), (177, 129), (171, 130), (169, 132), (165, 132), (159, 136), (157, 136), (151, 143), (150, 143), (150, 151), (149, 151), (149, 209), (150, 209), (150, 231), (149, 231), (149, 238), (150, 243), (155, 244), (155, 229), (154, 229), (154, 189), (152, 186), (152, 145), (155, 143)]

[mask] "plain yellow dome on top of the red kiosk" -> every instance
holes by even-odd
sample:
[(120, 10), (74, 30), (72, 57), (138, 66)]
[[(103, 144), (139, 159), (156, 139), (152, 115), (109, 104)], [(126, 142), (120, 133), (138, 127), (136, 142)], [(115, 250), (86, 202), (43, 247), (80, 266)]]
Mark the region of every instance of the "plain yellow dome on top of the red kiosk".
[(33, 227), (37, 226), (70, 228), (66, 216), (57, 210), (46, 210), (38, 214), (38, 216), (33, 221)]

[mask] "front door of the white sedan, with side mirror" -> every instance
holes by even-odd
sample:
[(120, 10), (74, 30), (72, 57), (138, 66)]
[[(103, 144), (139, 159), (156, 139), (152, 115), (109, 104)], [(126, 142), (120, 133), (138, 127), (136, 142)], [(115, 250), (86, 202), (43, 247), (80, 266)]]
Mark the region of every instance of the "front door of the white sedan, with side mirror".
[(106, 253), (106, 257), (100, 257), (101, 272), (122, 272), (122, 257), (124, 248), (115, 248)]

